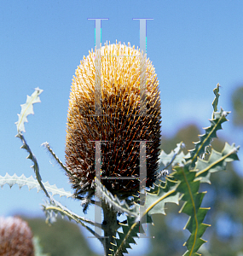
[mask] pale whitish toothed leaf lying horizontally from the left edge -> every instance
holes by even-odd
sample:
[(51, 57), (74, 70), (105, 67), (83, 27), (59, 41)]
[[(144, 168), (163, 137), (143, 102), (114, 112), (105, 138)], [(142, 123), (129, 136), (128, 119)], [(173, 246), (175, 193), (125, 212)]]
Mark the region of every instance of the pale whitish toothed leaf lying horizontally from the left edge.
[[(10, 176), (9, 173), (6, 173), (4, 177), (0, 175), (0, 186), (3, 188), (4, 184), (9, 184), (10, 188), (12, 188), (14, 184), (17, 184), (20, 189), (23, 186), (27, 186), (30, 190), (34, 188), (38, 189), (38, 192), (41, 190), (40, 184), (34, 177), (26, 177), (24, 174), (20, 177), (16, 174)], [(49, 193), (52, 193), (52, 195), (66, 196), (67, 198), (72, 197), (71, 192), (67, 192), (64, 189), (58, 189), (56, 185), (50, 185), (49, 182), (43, 183), (43, 185)]]

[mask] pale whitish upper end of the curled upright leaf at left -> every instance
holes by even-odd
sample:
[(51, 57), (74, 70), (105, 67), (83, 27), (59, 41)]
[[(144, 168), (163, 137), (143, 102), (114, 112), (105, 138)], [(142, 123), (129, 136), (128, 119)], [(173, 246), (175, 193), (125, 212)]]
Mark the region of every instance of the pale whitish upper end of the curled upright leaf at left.
[(38, 103), (41, 102), (39, 95), (43, 92), (43, 90), (36, 88), (35, 91), (32, 93), (32, 96), (27, 96), (27, 100), (25, 104), (20, 105), (21, 106), (21, 112), (18, 113), (19, 116), (19, 120), (17, 122), (15, 122), (15, 124), (17, 125), (17, 131), (18, 133), (24, 131), (25, 130), (25, 122), (28, 122), (27, 120), (27, 115), (29, 114), (33, 114), (33, 104), (34, 103)]

